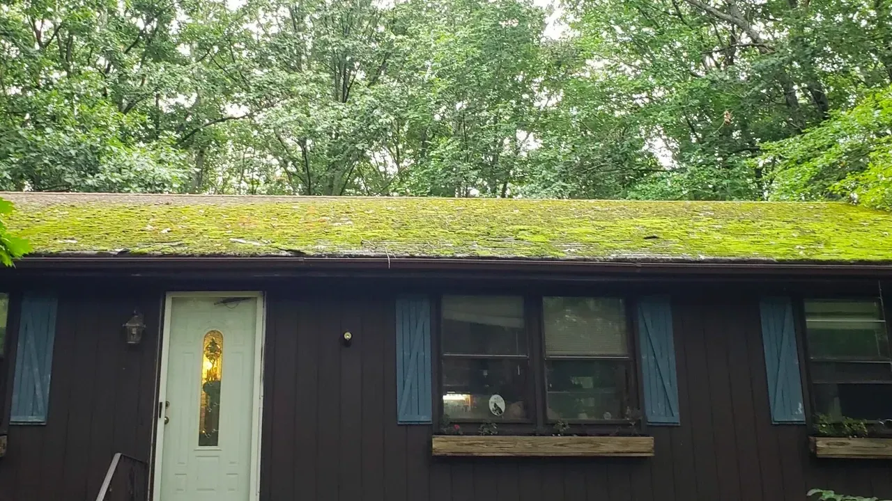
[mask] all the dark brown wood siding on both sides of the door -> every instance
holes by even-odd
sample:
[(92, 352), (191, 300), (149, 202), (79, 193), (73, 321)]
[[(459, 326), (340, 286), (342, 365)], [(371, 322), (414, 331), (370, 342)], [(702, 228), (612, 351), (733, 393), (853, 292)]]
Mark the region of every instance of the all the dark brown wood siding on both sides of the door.
[[(215, 288), (267, 288), (226, 285)], [(267, 289), (265, 501), (796, 501), (815, 487), (892, 497), (892, 461), (819, 460), (805, 426), (772, 425), (756, 292), (665, 289), (677, 291), (681, 426), (648, 428), (656, 456), (512, 460), (434, 459), (433, 426), (397, 424), (393, 292)], [(115, 452), (148, 459), (163, 294), (139, 290), (61, 294), (48, 420), (9, 426), (0, 499), (92, 501)], [(148, 324), (136, 349), (120, 330), (134, 308)], [(16, 322), (12, 311), (11, 332)], [(3, 372), (8, 388), (11, 365)]]

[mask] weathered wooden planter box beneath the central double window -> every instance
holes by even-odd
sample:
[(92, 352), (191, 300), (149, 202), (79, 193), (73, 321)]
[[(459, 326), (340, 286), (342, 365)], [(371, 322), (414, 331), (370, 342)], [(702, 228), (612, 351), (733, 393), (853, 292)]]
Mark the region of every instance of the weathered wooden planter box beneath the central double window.
[(654, 455), (653, 437), (524, 437), (434, 435), (434, 456), (611, 456)]

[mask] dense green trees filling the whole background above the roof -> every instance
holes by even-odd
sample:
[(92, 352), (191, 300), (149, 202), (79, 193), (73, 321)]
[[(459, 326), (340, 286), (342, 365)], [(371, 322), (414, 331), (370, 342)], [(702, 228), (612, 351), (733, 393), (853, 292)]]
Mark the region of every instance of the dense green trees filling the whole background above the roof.
[(892, 207), (892, 3), (540, 4), (9, 0), (0, 189)]

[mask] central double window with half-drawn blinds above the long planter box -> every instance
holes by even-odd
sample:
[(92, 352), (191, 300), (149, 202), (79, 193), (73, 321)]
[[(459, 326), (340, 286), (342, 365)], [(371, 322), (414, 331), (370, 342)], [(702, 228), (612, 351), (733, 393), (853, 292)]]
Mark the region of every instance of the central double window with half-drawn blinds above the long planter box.
[(622, 299), (443, 296), (441, 312), (450, 420), (609, 423), (635, 407)]

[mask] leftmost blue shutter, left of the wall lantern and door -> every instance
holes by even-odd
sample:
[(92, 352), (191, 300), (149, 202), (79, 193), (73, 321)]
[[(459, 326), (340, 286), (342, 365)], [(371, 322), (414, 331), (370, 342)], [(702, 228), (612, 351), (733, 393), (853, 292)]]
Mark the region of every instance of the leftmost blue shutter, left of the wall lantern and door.
[(46, 423), (53, 367), (56, 299), (26, 294), (21, 301), (10, 423)]

